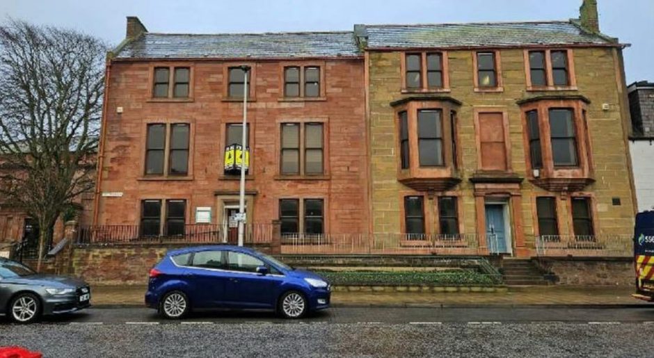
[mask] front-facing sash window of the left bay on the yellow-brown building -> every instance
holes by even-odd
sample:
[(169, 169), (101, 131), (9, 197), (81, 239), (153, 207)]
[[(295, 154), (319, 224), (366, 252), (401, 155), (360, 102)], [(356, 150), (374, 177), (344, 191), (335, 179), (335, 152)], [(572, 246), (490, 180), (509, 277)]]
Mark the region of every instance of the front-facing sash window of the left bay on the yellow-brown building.
[(421, 167), (443, 165), (440, 110), (418, 111), (418, 161)]

